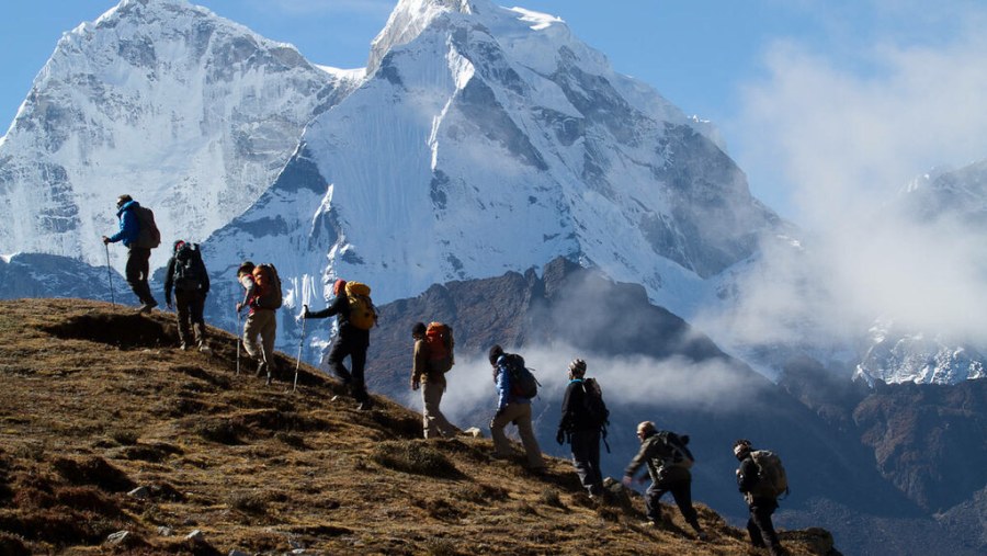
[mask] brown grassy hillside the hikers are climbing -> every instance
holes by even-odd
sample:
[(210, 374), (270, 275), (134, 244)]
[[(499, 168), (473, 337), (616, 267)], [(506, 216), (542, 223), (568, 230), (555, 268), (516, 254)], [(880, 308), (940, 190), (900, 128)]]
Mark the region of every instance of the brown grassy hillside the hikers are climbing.
[[(643, 527), (639, 498), (594, 507), (566, 461), (532, 476), (489, 440), (419, 440), (417, 413), (333, 401), (307, 365), (292, 393), (291, 358), (272, 386), (236, 376), (209, 331), (213, 356), (173, 348), (171, 314), (0, 302), (0, 554), (749, 554), (701, 504), (707, 543), (671, 507)], [(821, 530), (782, 540), (836, 554)]]

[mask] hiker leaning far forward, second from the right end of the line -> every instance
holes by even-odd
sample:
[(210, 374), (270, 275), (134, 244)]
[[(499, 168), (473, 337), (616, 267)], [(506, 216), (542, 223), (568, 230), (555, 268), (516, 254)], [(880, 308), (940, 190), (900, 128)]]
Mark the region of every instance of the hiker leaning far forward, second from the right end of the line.
[(689, 472), (692, 453), (685, 447), (689, 436), (679, 436), (669, 431), (659, 432), (654, 422), (644, 421), (637, 425), (637, 439), (640, 441), (640, 450), (624, 470), (623, 483), (629, 487), (637, 470), (647, 464), (651, 478), (651, 485), (645, 492), (648, 525), (660, 526), (660, 499), (666, 492), (671, 492), (685, 522), (701, 541), (705, 541), (706, 534), (700, 527), (695, 508), (692, 507), (692, 474)]

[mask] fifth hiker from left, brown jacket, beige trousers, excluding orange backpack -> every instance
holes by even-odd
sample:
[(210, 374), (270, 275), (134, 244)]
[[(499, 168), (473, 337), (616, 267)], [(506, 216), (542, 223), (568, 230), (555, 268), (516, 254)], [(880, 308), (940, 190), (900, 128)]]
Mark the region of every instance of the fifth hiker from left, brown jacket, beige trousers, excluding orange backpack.
[[(435, 324), (438, 325), (438, 324)], [(444, 325), (442, 325), (444, 326)], [(421, 388), (421, 422), (424, 438), (436, 436), (455, 436), (456, 429), (453, 427), (442, 411), (439, 405), (442, 402), (442, 394), (445, 392), (445, 372), (451, 365), (439, 365), (433, 363), (430, 342), (426, 338), (424, 322), (416, 322), (411, 327), (411, 338), (415, 339), (413, 358), (411, 362), (411, 389)], [(442, 341), (440, 339), (440, 341)], [(446, 360), (451, 359), (451, 353), (446, 353)]]

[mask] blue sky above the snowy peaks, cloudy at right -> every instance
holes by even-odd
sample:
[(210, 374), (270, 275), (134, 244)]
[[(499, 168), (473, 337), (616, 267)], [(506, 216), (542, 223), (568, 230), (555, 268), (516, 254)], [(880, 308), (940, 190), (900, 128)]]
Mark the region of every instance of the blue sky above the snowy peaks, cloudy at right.
[[(317, 64), (363, 66), (396, 0), (195, 3)], [(932, 166), (987, 158), (987, 2), (980, 0), (510, 0), (558, 15), (614, 68), (712, 120), (752, 192), (825, 226)], [(63, 32), (113, 0), (0, 8), (5, 127)], [(934, 8), (933, 8), (934, 5)]]

